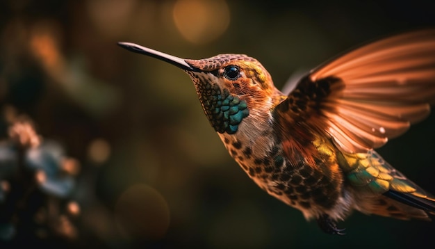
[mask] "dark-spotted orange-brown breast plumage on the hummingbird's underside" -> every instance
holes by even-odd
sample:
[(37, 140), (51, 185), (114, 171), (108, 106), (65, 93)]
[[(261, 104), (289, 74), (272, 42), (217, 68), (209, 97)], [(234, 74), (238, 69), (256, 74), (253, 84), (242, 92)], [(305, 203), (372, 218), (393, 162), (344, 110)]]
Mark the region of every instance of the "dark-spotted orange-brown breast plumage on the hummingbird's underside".
[(267, 153), (259, 156), (253, 153), (251, 146), (238, 140), (222, 140), (247, 175), (286, 204), (299, 209), (331, 209), (336, 204), (339, 183), (307, 166), (303, 160), (297, 165), (290, 164), (279, 143), (274, 143)]

